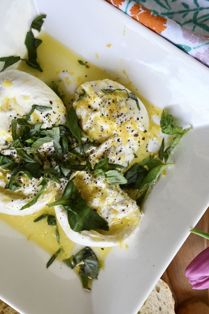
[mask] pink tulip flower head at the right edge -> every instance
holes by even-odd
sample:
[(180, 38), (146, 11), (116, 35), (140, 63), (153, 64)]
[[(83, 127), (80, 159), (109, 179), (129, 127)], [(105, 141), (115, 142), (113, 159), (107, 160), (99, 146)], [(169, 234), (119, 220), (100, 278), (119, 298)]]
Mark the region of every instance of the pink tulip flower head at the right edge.
[(209, 247), (198, 254), (185, 269), (192, 289), (209, 288)]

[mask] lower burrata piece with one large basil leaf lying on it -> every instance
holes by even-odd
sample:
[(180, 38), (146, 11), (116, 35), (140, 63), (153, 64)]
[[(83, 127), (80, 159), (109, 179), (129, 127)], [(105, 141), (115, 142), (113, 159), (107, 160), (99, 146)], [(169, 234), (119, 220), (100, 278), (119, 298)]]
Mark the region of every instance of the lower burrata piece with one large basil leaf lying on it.
[(58, 222), (71, 241), (87, 246), (116, 246), (127, 240), (138, 228), (142, 213), (136, 201), (129, 198), (119, 185), (113, 185), (104, 178), (94, 177), (85, 171), (74, 173), (72, 180), (87, 205), (97, 210), (108, 222), (109, 231), (75, 232), (68, 223), (65, 209), (61, 205), (55, 206)]

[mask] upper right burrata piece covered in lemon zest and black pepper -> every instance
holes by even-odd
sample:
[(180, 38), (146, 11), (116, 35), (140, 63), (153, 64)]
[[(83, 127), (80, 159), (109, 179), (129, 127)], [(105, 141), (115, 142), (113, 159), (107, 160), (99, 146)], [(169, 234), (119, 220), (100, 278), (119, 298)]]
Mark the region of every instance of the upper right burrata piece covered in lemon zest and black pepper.
[[(103, 158), (126, 166), (143, 144), (149, 126), (149, 117), (144, 104), (128, 97), (126, 91), (105, 94), (102, 89), (126, 89), (109, 80), (86, 82), (76, 90), (73, 103), (81, 129), (101, 145), (89, 156), (94, 165)], [(84, 99), (81, 96), (84, 94)]]

